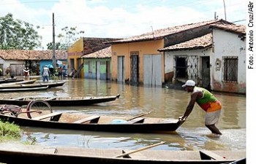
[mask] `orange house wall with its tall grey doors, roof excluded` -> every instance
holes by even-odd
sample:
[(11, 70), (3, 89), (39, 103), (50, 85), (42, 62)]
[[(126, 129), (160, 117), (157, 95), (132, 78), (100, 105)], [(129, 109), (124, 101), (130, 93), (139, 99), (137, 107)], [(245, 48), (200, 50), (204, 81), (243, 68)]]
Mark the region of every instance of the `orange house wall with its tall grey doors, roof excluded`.
[[(112, 45), (112, 79), (132, 84), (162, 85), (163, 65), (162, 39), (145, 42), (130, 42)], [(146, 64), (144, 64), (146, 63)], [(143, 77), (146, 77), (143, 78)], [(154, 82), (151, 81), (154, 79)]]

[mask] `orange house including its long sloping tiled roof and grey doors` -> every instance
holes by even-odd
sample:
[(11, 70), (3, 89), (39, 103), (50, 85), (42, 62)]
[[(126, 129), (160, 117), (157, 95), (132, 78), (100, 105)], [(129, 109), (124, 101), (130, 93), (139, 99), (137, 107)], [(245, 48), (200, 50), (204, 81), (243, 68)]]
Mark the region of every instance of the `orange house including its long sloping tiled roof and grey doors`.
[(209, 26), (214, 23), (227, 22), (208, 20), (108, 42), (112, 45), (112, 80), (135, 85), (161, 86), (172, 78), (173, 70), (166, 66), (170, 63), (166, 63), (165, 52), (159, 50), (208, 34), (211, 32)]

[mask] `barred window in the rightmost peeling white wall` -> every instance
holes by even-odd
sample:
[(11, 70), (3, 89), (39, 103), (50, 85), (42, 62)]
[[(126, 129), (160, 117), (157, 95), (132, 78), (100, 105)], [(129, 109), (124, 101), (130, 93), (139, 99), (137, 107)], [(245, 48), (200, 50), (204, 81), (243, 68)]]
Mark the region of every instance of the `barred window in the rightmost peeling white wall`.
[(223, 69), (224, 81), (238, 82), (238, 57), (225, 56)]

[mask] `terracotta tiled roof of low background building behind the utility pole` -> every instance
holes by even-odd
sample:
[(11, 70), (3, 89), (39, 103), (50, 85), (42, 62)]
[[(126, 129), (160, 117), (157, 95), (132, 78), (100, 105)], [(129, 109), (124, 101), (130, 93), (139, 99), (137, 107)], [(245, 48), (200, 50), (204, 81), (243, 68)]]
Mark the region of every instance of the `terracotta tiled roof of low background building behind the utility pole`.
[[(51, 60), (52, 50), (0, 50), (0, 57), (4, 60)], [(66, 60), (67, 51), (56, 50), (57, 60)]]

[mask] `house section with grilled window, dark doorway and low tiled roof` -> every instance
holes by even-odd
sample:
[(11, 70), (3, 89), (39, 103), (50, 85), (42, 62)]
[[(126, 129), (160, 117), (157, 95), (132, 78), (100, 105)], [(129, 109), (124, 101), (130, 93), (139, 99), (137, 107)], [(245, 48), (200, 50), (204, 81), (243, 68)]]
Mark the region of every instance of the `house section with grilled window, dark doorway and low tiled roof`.
[(198, 86), (211, 89), (212, 34), (159, 50), (165, 53), (165, 83), (184, 83), (193, 79)]

